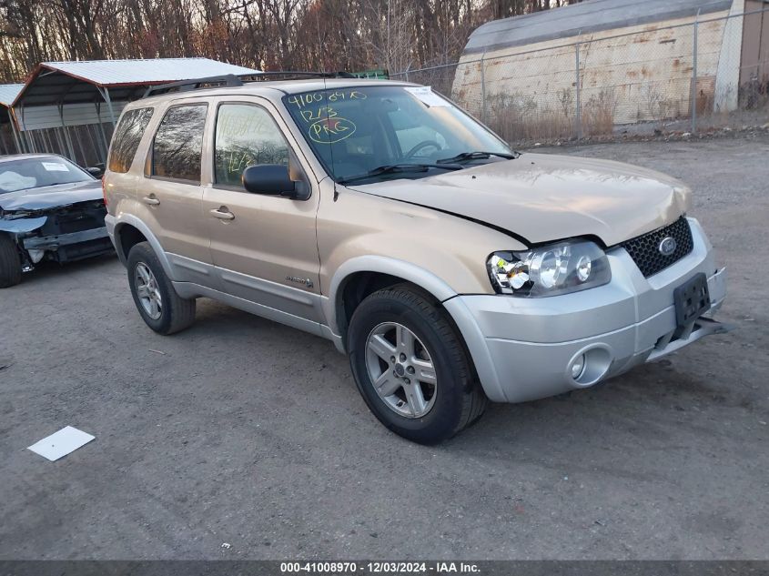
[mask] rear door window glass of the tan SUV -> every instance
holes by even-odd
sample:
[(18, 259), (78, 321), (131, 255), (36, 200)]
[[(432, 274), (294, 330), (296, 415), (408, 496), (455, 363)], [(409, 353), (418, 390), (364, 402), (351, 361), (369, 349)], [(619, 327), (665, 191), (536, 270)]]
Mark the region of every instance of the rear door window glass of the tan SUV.
[(205, 104), (169, 108), (152, 143), (152, 175), (200, 182)]

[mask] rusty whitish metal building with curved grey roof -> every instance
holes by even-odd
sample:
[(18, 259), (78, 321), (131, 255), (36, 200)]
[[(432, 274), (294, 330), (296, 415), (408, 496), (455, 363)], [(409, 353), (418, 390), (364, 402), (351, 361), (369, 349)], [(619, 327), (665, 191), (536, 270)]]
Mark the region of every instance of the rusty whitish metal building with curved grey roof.
[(494, 106), (567, 125), (584, 113), (621, 125), (732, 111), (749, 80), (769, 82), (763, 9), (767, 0), (586, 0), (496, 20), (470, 36), (452, 94), (492, 122)]

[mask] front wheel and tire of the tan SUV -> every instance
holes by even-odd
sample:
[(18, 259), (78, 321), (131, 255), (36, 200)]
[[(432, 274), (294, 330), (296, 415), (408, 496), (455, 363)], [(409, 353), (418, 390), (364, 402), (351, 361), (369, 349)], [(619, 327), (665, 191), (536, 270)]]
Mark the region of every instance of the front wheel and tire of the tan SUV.
[[(420, 376), (412, 370), (414, 365), (410, 366), (408, 356), (402, 360), (402, 352), (395, 362), (391, 356), (390, 363), (385, 360), (392, 349), (400, 349), (399, 331), (408, 340), (408, 334), (401, 328), (406, 328), (416, 339), (414, 349), (418, 352), (413, 358), (421, 362), (416, 366), (431, 364), (434, 385), (430, 384), (430, 369), (418, 368), (422, 376), (428, 377), (418, 382)], [(408, 346), (403, 349), (409, 349)], [(409, 285), (379, 290), (360, 303), (350, 320), (348, 347), (353, 378), (369, 409), (388, 429), (407, 440), (420, 444), (448, 440), (481, 418), (486, 408), (486, 395), (446, 311)], [(407, 383), (404, 378), (412, 381)], [(399, 379), (405, 385), (388, 396), (387, 392), (399, 385)], [(381, 395), (375, 388), (375, 380), (386, 382)], [(421, 403), (409, 400), (413, 394), (410, 387), (415, 383), (420, 388)], [(399, 406), (404, 397), (408, 401)], [(414, 409), (422, 405), (427, 405), (426, 412)], [(410, 414), (406, 414), (407, 411)]]

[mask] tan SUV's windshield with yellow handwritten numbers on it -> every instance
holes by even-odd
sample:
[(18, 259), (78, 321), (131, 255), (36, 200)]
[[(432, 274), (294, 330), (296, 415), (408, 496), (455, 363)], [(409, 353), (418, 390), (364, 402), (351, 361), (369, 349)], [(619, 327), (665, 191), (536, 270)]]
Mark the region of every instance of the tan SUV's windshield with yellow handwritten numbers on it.
[[(512, 154), (500, 138), (429, 86), (349, 86), (291, 94), (283, 102), (337, 182), (369, 172), (377, 172), (371, 179), (426, 177), (441, 173), (435, 166), (440, 160), (463, 153)], [(426, 169), (379, 170), (412, 164)]]

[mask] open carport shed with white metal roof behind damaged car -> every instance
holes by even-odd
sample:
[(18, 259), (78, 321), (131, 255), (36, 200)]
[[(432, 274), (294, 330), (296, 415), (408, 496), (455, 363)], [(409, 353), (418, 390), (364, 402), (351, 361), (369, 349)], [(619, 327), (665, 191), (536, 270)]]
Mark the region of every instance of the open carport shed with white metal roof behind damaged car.
[(123, 106), (148, 86), (258, 70), (208, 58), (42, 62), (10, 106), (25, 152), (54, 152), (81, 166), (106, 161)]

